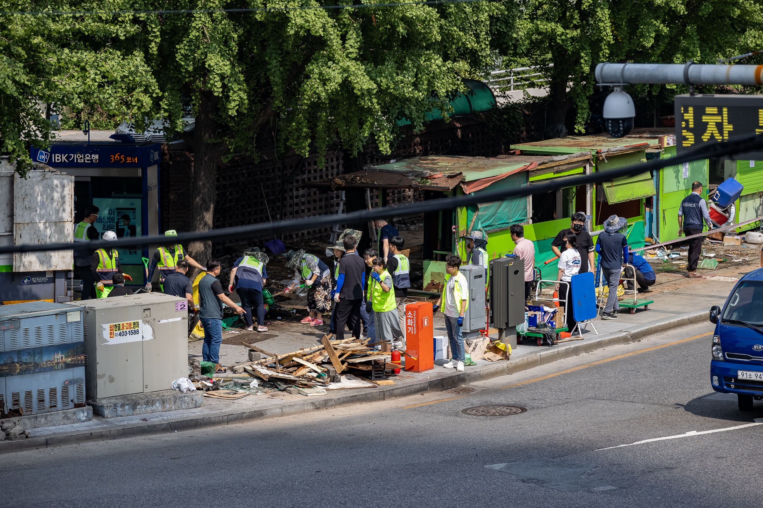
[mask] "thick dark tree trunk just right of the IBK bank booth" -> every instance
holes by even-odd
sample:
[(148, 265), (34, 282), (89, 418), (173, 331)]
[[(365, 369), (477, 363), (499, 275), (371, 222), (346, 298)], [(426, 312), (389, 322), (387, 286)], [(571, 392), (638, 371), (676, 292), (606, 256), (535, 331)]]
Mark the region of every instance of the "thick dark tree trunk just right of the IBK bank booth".
[[(223, 142), (208, 142), (217, 137), (217, 101), (212, 92), (201, 94), (193, 132), (193, 174), (191, 190), (191, 228), (194, 232), (209, 231), (214, 227), (214, 203), (217, 199), (217, 165), (227, 146)], [(188, 254), (201, 266), (212, 257), (211, 241), (192, 241)], [(192, 276), (198, 269), (192, 269)]]

